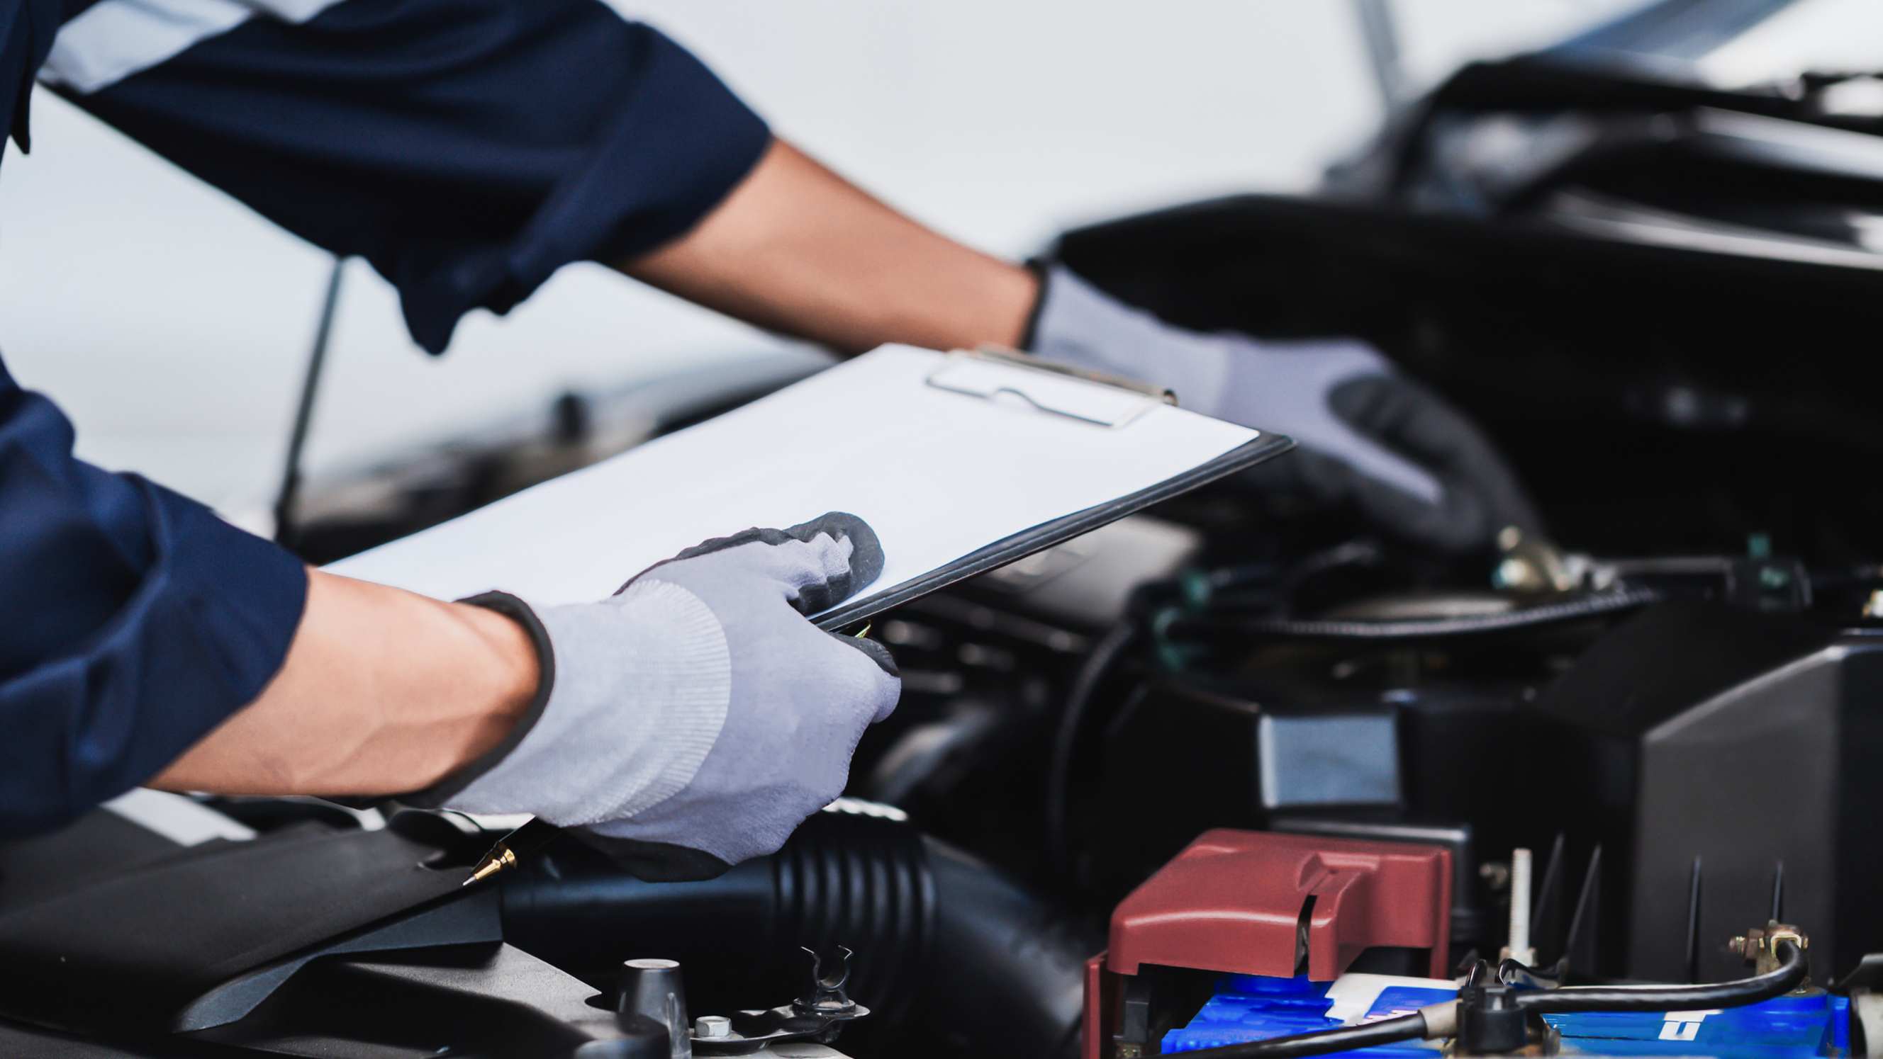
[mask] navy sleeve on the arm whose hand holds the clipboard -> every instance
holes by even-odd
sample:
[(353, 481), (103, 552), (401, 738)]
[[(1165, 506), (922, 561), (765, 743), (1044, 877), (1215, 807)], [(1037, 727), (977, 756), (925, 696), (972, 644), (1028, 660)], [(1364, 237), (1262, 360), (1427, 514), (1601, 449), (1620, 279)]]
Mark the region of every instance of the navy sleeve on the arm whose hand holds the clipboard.
[(0, 363), (0, 835), (162, 771), (262, 692), (305, 602), (281, 547), (73, 459)]

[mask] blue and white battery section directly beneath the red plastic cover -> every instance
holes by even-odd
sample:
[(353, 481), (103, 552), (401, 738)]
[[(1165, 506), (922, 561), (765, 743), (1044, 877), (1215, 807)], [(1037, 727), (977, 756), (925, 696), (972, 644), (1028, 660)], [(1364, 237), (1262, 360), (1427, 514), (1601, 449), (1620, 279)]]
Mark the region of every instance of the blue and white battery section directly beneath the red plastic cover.
[[(1231, 974), (1216, 986), (1216, 995), (1196, 1012), (1190, 1025), (1164, 1035), (1164, 1053), (1196, 1051), (1337, 1027), (1341, 1021), (1328, 1018), (1328, 1008), (1333, 1006), (1333, 1001), (1328, 999), (1328, 982), (1309, 982), (1307, 978)], [(1367, 1008), (1365, 1019), (1373, 1021), (1407, 1014), (1425, 1004), (1448, 1001), (1452, 995), (1452, 989), (1390, 986), (1380, 989), (1373, 1006)], [(1433, 1048), (1437, 1044), (1408, 1040), (1405, 1044), (1341, 1051), (1341, 1055), (1431, 1059)]]

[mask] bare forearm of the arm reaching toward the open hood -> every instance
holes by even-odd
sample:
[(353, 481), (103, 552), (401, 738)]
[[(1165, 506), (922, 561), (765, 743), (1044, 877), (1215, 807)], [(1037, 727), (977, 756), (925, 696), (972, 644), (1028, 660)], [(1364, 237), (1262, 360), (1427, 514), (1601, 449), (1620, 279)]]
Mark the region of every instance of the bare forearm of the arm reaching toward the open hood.
[(618, 267), (840, 352), (1013, 346), (1038, 295), (1026, 269), (936, 235), (781, 139), (689, 233)]

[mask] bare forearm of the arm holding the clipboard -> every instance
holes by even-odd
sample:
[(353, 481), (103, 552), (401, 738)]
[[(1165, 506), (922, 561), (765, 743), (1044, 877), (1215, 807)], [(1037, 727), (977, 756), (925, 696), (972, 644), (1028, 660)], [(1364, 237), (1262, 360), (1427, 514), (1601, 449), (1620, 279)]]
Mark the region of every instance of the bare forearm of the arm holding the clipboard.
[(535, 690), (535, 649), (510, 619), (311, 570), (281, 672), (151, 786), (418, 790), (501, 743)]

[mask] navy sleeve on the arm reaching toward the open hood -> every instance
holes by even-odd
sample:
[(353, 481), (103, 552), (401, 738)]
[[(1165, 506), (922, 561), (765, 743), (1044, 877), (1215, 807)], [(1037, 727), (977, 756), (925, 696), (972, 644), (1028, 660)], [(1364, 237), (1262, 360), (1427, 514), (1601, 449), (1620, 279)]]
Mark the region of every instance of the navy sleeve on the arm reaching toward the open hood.
[(371, 261), (435, 354), (471, 308), (505, 312), (571, 261), (684, 233), (770, 143), (693, 55), (601, 0), (343, 0), (60, 90)]

